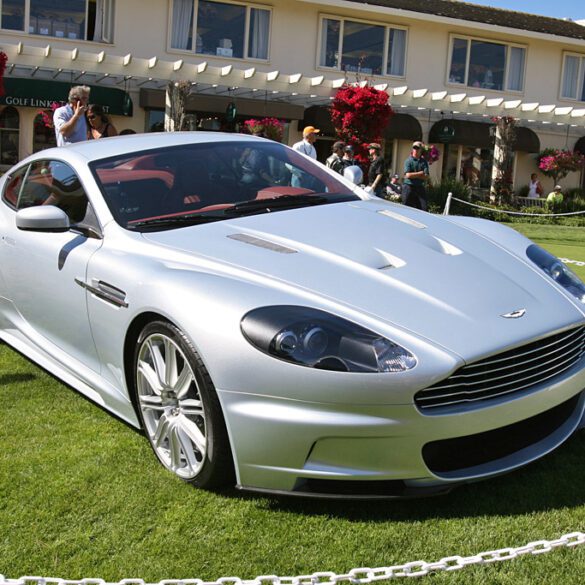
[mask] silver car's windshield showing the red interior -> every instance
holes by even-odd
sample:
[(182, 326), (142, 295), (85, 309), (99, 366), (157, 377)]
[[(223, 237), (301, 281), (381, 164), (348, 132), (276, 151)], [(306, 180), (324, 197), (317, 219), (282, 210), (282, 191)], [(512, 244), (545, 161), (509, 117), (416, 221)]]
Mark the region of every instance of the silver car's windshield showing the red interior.
[(166, 147), (90, 166), (116, 222), (137, 231), (359, 199), (319, 163), (262, 140)]

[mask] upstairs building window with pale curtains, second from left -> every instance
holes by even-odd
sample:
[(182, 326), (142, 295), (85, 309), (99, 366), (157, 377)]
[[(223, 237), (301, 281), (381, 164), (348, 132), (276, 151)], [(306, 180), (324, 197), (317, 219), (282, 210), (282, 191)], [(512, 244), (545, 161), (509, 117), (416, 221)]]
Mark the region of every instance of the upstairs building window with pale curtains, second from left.
[[(268, 59), (271, 11), (212, 0), (173, 0), (171, 48), (236, 59)], [(195, 39), (195, 43), (193, 43)]]

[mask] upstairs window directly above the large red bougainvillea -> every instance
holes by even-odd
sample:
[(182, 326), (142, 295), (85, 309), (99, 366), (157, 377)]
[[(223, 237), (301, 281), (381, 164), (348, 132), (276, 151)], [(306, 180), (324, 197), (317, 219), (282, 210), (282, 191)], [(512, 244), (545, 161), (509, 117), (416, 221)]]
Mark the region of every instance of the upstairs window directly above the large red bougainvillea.
[(404, 77), (406, 30), (340, 18), (321, 19), (319, 65)]

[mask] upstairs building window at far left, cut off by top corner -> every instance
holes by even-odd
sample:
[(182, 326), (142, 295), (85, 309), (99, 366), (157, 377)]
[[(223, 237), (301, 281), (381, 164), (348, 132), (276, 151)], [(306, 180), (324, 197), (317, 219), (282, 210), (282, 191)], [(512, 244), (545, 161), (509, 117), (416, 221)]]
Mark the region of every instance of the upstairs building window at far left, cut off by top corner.
[(111, 43), (114, 0), (2, 0), (2, 28)]

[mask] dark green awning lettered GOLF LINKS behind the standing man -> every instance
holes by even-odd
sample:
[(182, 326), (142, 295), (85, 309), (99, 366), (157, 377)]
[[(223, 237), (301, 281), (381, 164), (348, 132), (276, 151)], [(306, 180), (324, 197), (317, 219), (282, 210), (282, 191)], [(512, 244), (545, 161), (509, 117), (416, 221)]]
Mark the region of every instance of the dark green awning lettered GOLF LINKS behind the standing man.
[[(45, 109), (51, 104), (66, 103), (69, 89), (77, 84), (44, 79), (23, 79), (20, 77), (4, 78), (4, 95), (0, 96), (0, 105)], [(89, 101), (103, 106), (104, 110), (114, 116), (132, 116), (132, 99), (122, 89), (90, 85)]]

